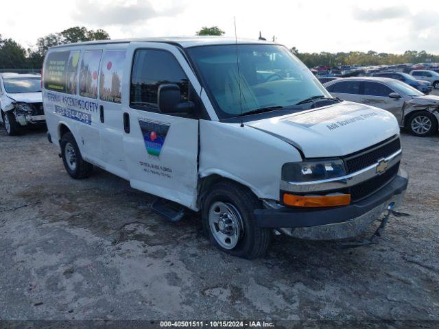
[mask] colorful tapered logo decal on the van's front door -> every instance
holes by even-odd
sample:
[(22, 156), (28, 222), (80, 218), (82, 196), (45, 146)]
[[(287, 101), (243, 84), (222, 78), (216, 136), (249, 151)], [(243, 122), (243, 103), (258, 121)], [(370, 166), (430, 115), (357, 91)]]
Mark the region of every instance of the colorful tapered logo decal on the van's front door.
[(160, 156), (169, 130), (169, 125), (142, 120), (139, 120), (139, 125), (148, 154), (150, 154), (150, 156)]

